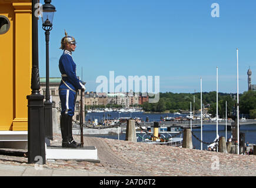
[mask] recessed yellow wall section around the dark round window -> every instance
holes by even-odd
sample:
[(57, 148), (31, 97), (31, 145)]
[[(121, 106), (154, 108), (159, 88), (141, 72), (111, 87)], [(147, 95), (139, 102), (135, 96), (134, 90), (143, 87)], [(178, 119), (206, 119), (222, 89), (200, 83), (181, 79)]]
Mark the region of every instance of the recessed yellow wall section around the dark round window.
[(9, 31), (0, 35), (0, 130), (12, 130), (14, 119), (14, 8), (0, 0), (0, 15), (9, 19)]

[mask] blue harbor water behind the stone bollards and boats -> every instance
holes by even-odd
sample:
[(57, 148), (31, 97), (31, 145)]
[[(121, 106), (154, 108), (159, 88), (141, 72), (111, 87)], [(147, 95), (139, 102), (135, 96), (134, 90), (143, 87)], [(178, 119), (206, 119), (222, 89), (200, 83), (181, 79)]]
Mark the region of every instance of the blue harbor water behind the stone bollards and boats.
[[(85, 117), (85, 120), (91, 119), (98, 119), (98, 121), (101, 121), (104, 119), (115, 119), (118, 117), (140, 117), (142, 120), (146, 120), (148, 117), (149, 122), (159, 122), (161, 117), (177, 117), (177, 116), (183, 116), (186, 117), (187, 115), (177, 115), (174, 113), (142, 113), (142, 112), (134, 112), (134, 113), (118, 113), (118, 112), (99, 112), (99, 113), (88, 113)], [(203, 142), (212, 143), (214, 139), (217, 136), (216, 132), (216, 124), (207, 124), (202, 127), (202, 140)], [(201, 128), (193, 128), (192, 132), (195, 136), (197, 136), (199, 139), (201, 139)], [(256, 124), (255, 125), (240, 125), (240, 132), (245, 133), (245, 142), (249, 142), (252, 144), (256, 144)], [(175, 134), (174, 134), (175, 135)], [(218, 135), (226, 137), (226, 131), (225, 131), (225, 125), (218, 125)], [(118, 139), (118, 135), (87, 135), (87, 136), (95, 136), (95, 137), (106, 137), (109, 139)], [(137, 141), (141, 142), (141, 137), (144, 136), (144, 133), (137, 134)], [(168, 136), (168, 135), (165, 135)], [(183, 135), (178, 135), (177, 137), (182, 137)], [(231, 137), (231, 131), (227, 131), (227, 138)], [(125, 134), (119, 134), (120, 140), (125, 140)], [(201, 143), (192, 136), (192, 143), (193, 146), (195, 146), (195, 149), (201, 149)], [(207, 150), (207, 144), (202, 145), (203, 150)]]

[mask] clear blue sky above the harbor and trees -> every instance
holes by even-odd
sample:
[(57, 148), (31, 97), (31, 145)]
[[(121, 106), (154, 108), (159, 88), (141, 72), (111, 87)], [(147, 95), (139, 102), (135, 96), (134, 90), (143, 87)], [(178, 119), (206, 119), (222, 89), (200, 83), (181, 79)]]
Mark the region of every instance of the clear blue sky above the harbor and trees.
[[(211, 5), (220, 5), (212, 18)], [(242, 93), (247, 70), (256, 84), (256, 1), (52, 0), (50, 76), (59, 77), (64, 29), (77, 40), (77, 75), (96, 90), (98, 76), (160, 76), (160, 92), (237, 92), (237, 51)], [(39, 72), (45, 77), (45, 35), (39, 20)], [(117, 85), (117, 84), (116, 84)], [(128, 85), (128, 83), (127, 83)]]

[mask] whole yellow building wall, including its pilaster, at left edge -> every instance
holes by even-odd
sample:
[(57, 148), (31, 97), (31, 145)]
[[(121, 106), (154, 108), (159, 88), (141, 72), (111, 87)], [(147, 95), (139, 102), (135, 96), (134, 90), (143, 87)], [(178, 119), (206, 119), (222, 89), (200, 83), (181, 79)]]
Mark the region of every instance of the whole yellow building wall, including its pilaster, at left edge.
[(10, 21), (0, 35), (0, 130), (28, 130), (31, 94), (32, 15), (31, 0), (0, 0), (0, 15)]

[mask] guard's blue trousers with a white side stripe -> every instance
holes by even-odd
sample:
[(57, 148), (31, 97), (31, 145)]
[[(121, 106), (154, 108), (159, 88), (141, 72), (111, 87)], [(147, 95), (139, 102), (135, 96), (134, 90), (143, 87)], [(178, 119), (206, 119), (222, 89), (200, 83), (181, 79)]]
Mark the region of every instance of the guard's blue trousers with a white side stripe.
[(60, 89), (59, 98), (61, 99), (61, 114), (74, 116), (77, 93), (69, 89)]

